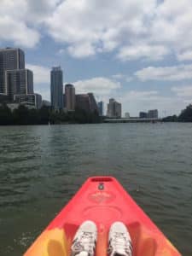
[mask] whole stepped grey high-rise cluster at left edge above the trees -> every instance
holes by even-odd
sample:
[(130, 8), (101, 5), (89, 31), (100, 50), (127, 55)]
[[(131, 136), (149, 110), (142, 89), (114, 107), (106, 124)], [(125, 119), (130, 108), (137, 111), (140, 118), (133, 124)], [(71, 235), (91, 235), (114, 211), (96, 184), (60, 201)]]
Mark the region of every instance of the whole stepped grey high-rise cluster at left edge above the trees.
[(0, 49), (0, 95), (1, 102), (41, 105), (41, 96), (33, 92), (33, 73), (25, 68), (25, 54), (19, 48)]

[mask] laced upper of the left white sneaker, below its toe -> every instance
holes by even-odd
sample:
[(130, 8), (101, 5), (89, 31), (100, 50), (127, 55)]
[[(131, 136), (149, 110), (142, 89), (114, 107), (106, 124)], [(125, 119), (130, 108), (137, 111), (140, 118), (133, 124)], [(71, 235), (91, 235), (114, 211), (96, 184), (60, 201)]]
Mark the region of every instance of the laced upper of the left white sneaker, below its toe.
[(95, 237), (91, 232), (83, 231), (75, 241), (73, 241), (73, 253), (76, 255), (80, 252), (87, 252), (89, 256), (94, 255), (96, 247)]

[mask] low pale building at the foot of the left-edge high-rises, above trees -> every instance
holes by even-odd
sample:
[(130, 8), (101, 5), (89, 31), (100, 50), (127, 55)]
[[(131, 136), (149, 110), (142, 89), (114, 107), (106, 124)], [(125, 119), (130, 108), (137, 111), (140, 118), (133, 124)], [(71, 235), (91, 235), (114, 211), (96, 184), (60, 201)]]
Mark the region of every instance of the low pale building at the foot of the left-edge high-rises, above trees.
[(38, 93), (33, 94), (21, 94), (21, 95), (15, 95), (14, 100), (16, 103), (26, 103), (28, 105), (32, 105), (35, 108), (41, 108), (42, 107), (42, 96)]

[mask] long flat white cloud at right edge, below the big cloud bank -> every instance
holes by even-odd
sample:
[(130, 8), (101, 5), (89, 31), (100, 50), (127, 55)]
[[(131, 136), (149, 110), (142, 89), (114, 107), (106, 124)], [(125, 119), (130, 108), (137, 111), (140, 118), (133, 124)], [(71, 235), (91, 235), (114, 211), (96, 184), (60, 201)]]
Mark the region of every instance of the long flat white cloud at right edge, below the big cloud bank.
[(178, 81), (183, 79), (192, 79), (192, 65), (178, 65), (172, 67), (146, 67), (142, 70), (138, 70), (135, 75), (142, 81)]

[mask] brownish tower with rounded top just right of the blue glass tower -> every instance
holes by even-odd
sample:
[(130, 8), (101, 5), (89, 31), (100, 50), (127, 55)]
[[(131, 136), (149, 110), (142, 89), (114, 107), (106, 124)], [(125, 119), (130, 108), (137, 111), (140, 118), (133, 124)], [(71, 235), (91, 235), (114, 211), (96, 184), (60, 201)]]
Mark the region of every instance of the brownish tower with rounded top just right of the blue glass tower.
[(73, 84), (66, 84), (65, 86), (65, 107), (67, 111), (75, 110), (75, 88)]

